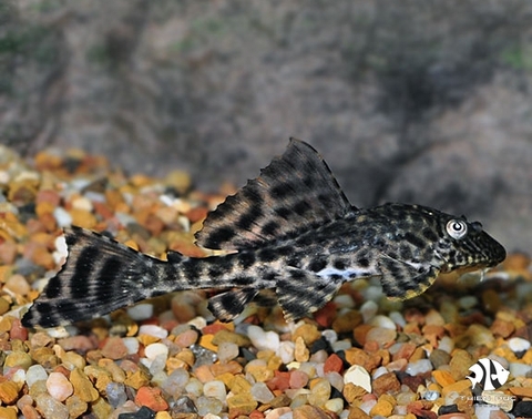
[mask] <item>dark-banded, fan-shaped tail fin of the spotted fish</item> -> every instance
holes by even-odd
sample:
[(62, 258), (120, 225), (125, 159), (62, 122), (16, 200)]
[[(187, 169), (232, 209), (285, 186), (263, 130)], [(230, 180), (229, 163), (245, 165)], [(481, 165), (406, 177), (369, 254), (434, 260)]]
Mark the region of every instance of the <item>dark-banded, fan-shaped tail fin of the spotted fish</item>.
[(163, 262), (80, 227), (64, 231), (69, 256), (22, 318), (25, 327), (53, 327), (101, 317), (147, 298)]

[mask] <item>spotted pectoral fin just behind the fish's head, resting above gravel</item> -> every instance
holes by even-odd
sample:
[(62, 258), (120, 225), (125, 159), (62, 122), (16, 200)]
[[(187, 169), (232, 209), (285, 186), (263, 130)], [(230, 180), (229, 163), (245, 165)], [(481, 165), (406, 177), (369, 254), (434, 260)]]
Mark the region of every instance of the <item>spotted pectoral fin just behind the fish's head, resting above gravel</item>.
[(413, 298), (430, 287), (440, 269), (431, 265), (412, 266), (381, 254), (378, 260), (382, 290), (389, 298)]

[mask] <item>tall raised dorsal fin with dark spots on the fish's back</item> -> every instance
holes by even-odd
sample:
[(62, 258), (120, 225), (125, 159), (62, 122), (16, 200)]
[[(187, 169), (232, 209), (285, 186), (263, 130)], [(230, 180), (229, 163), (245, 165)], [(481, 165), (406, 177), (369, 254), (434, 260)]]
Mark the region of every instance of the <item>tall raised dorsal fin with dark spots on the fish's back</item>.
[(354, 209), (327, 163), (307, 143), (290, 139), (286, 152), (248, 181), (196, 233), (198, 245), (242, 249), (304, 232)]

